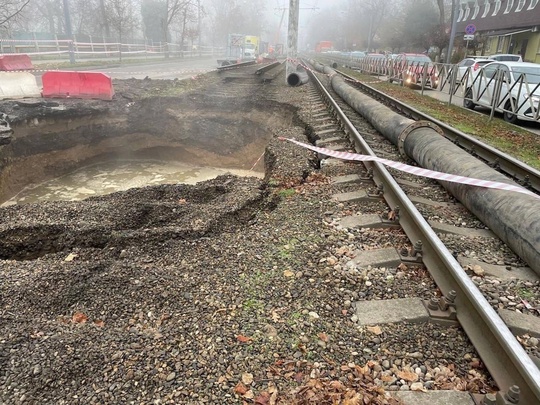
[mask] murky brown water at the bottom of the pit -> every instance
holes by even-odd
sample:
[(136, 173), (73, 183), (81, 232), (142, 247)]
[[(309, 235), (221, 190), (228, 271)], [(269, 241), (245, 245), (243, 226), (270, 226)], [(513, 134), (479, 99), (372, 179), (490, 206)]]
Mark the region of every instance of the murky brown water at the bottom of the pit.
[(78, 201), (156, 184), (195, 184), (226, 173), (264, 177), (264, 173), (254, 170), (198, 167), (163, 161), (111, 161), (81, 168), (38, 186), (27, 187), (0, 207), (40, 201)]

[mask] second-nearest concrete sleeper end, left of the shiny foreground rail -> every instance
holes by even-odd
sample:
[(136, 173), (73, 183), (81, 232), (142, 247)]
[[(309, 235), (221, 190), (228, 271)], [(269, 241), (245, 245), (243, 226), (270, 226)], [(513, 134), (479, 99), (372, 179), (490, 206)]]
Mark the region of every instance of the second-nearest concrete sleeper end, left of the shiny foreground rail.
[(354, 303), (360, 325), (396, 322), (427, 322), (429, 314), (420, 298), (357, 301)]

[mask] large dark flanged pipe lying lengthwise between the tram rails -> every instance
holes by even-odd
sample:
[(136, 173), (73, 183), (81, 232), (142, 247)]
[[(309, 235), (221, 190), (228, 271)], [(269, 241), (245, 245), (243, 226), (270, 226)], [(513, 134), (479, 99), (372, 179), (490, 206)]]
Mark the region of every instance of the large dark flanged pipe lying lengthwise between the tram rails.
[[(328, 66), (320, 70), (320, 64), (312, 65), (330, 75), (334, 91), (420, 166), (444, 173), (515, 184), (464, 152), (432, 127), (419, 125), (396, 114), (349, 86)], [(440, 183), (540, 275), (540, 199), (516, 192), (444, 181)]]

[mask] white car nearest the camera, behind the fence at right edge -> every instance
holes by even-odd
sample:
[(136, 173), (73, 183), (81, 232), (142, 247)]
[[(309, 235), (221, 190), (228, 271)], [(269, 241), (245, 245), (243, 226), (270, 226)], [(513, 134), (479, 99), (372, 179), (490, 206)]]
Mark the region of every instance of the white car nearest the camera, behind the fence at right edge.
[(502, 112), (504, 120), (515, 123), (539, 121), (540, 65), (528, 62), (492, 62), (484, 65), (468, 84), (463, 106), (477, 105)]

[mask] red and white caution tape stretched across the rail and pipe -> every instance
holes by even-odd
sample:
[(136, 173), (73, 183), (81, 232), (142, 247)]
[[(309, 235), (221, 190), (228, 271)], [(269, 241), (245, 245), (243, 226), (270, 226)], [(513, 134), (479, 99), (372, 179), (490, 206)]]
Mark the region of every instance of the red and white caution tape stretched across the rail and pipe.
[(335, 157), (337, 159), (357, 160), (361, 162), (379, 162), (385, 166), (392, 167), (396, 170), (413, 174), (415, 176), (428, 177), (430, 179), (449, 181), (452, 183), (468, 184), (468, 185), (477, 186), (477, 187), (494, 188), (497, 190), (505, 190), (505, 191), (515, 191), (517, 193), (527, 194), (527, 195), (540, 199), (540, 196), (533, 193), (532, 191), (529, 191), (523, 187), (519, 187), (513, 184), (501, 183), (498, 181), (491, 181), (491, 180), (480, 180), (480, 179), (475, 179), (472, 177), (458, 176), (456, 174), (436, 172), (433, 170), (424, 169), (422, 167), (410, 166), (404, 163), (394, 162), (393, 160), (383, 159), (376, 156), (360, 155), (358, 153), (339, 152), (335, 150), (319, 148), (317, 146), (308, 145), (306, 143), (302, 143), (302, 142), (296, 141), (294, 139), (289, 139), (289, 138), (280, 137), (279, 139), (295, 143), (304, 148), (310, 149), (312, 151), (321, 153), (326, 156)]

